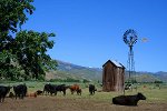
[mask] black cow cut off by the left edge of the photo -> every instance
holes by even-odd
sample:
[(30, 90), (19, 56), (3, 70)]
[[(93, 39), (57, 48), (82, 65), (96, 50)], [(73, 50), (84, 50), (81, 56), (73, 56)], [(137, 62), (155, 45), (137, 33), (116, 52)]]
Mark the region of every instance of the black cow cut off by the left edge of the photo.
[(4, 102), (6, 95), (9, 93), (11, 87), (0, 85), (0, 102)]

